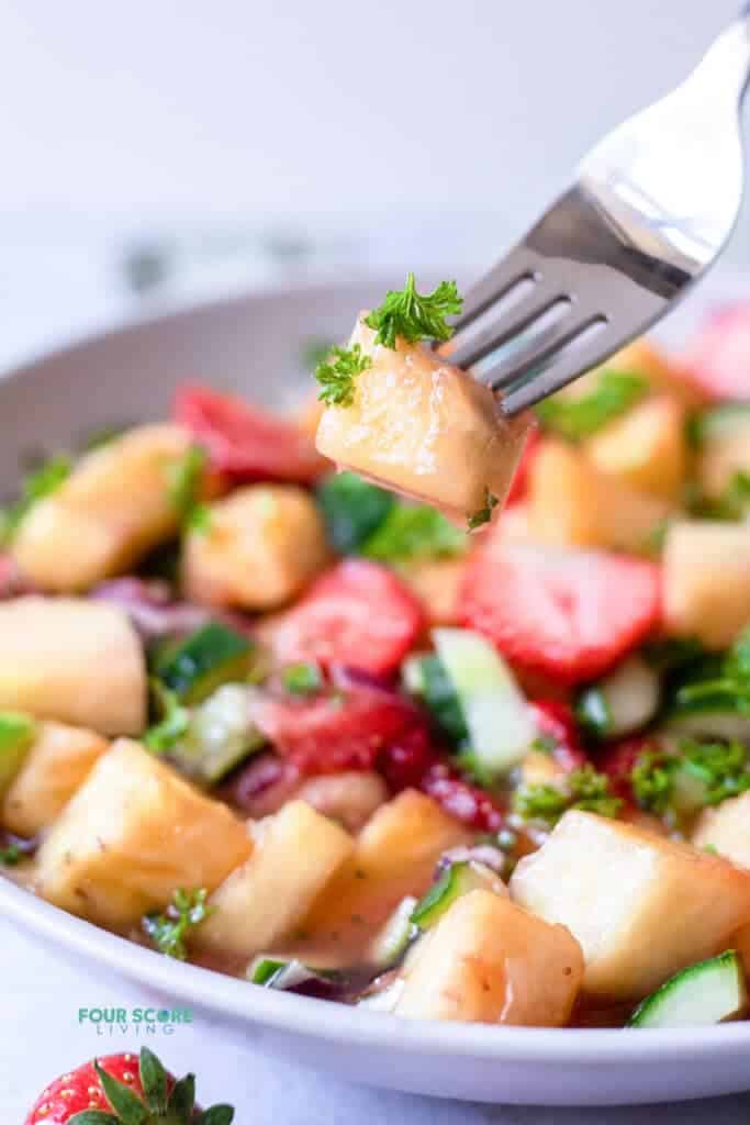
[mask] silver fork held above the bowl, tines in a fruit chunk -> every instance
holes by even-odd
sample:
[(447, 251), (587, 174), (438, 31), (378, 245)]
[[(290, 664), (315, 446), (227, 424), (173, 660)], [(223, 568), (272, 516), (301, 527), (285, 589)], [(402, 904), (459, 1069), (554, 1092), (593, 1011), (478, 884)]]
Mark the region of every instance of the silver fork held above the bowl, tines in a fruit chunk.
[(742, 200), (750, 3), (676, 90), (609, 133), (578, 179), (468, 294), (451, 362), (507, 415), (665, 316), (719, 258)]

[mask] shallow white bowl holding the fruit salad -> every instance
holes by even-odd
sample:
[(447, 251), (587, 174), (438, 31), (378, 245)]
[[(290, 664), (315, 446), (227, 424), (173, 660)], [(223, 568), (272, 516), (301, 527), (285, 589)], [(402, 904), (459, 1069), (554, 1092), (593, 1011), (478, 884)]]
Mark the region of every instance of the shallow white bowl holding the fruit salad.
[[(29, 451), (64, 447), (99, 426), (163, 415), (187, 378), (289, 402), (304, 385), (301, 343), (343, 338), (358, 309), (382, 291), (382, 282), (360, 280), (226, 300), (26, 364), (0, 382), (0, 485), (12, 483)], [(693, 315), (728, 291), (737, 291), (737, 281), (719, 276), (692, 298)], [(679, 318), (686, 323), (690, 315), (688, 307)], [(55, 955), (121, 974), (163, 1004), (191, 1007), (235, 1042), (346, 1080), (527, 1105), (638, 1104), (750, 1089), (750, 1023), (625, 1032), (398, 1020), (170, 961), (3, 879), (0, 912)]]

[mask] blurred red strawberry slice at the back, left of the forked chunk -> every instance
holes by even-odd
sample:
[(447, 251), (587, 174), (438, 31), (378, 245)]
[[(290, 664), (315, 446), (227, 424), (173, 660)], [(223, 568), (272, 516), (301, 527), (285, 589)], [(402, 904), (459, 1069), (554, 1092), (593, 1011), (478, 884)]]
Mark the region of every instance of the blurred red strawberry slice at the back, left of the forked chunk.
[(331, 469), (301, 426), (208, 387), (180, 388), (174, 420), (196, 435), (214, 468), (233, 480), (311, 484)]

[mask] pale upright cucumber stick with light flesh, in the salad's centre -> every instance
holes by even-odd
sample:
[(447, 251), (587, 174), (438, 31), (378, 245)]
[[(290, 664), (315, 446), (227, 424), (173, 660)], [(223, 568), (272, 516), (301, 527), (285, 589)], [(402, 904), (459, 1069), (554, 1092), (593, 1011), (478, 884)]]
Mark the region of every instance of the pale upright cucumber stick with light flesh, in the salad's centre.
[(490, 775), (507, 773), (536, 734), (510, 669), (493, 645), (470, 629), (434, 629), (432, 639), (455, 692), (472, 757)]

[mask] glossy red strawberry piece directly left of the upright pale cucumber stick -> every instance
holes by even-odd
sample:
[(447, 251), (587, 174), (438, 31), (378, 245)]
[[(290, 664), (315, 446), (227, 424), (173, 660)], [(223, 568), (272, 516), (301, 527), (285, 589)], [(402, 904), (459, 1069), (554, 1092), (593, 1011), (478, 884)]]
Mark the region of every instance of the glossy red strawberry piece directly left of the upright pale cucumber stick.
[(395, 691), (326, 688), (311, 699), (264, 692), (253, 720), (282, 758), (304, 774), (370, 770), (385, 747), (424, 722)]

